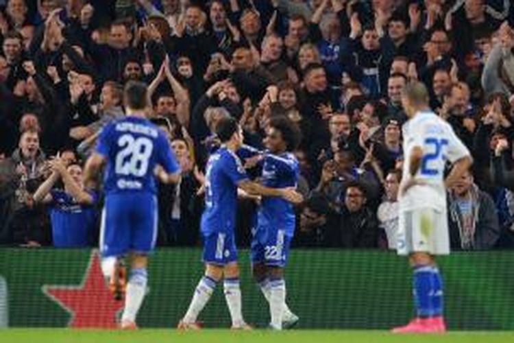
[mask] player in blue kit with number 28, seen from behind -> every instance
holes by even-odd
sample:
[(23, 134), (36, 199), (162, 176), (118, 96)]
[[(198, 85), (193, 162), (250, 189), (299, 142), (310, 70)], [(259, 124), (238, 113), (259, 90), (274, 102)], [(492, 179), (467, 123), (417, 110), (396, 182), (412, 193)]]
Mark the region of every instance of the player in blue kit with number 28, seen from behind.
[[(86, 186), (101, 169), (105, 204), (101, 215), (100, 251), (106, 278), (119, 281), (119, 259), (130, 254), (122, 329), (136, 328), (136, 315), (147, 288), (147, 255), (157, 236), (156, 178), (178, 182), (180, 170), (167, 137), (145, 117), (147, 86), (128, 82), (123, 94), (126, 117), (103, 128), (95, 152), (86, 163)], [(120, 283), (114, 284), (119, 289)]]

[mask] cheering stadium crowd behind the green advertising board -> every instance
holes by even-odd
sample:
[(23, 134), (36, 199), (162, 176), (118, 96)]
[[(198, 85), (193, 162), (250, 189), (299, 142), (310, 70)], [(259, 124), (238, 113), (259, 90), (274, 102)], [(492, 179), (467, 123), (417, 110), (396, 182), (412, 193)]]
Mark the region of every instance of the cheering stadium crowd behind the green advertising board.
[[(401, 95), (424, 82), (474, 166), (449, 190), (452, 248), (514, 247), (514, 5), (509, 0), (0, 0), (0, 243), (94, 246), (101, 191), (82, 167), (123, 116), (128, 80), (182, 167), (159, 187), (160, 246), (199, 244), (217, 121), (263, 148), (302, 131), (293, 246), (395, 248)], [(246, 159), (254, 169), (255, 161)], [(254, 171), (254, 175), (258, 174)], [(241, 199), (247, 246), (256, 203)]]

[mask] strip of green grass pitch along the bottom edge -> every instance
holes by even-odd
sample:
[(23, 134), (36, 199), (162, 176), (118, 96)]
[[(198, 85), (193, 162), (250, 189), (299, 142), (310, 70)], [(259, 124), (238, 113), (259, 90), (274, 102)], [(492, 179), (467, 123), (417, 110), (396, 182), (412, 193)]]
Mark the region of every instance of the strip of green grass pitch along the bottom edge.
[(138, 331), (72, 329), (0, 330), (2, 343), (511, 343), (514, 332), (456, 331), (445, 335), (393, 335), (387, 331), (296, 330), (229, 331), (204, 330), (180, 332), (164, 329)]

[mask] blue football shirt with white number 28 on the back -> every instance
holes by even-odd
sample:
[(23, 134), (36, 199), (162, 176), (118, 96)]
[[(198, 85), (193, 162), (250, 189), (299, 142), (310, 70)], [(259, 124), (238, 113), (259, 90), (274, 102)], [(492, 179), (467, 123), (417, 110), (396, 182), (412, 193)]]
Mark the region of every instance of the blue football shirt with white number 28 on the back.
[(154, 168), (179, 170), (168, 140), (154, 123), (123, 117), (108, 123), (99, 136), (96, 152), (107, 158), (103, 189), (111, 193), (156, 193)]

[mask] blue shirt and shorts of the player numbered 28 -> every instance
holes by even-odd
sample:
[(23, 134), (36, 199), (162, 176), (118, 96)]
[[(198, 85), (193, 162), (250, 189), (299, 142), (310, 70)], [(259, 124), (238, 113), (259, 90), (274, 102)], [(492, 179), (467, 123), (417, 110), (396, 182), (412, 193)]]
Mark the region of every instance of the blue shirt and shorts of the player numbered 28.
[(107, 161), (102, 255), (119, 256), (129, 250), (149, 252), (157, 235), (154, 169), (161, 165), (170, 174), (178, 171), (164, 133), (145, 118), (124, 117), (103, 128), (96, 152)]

